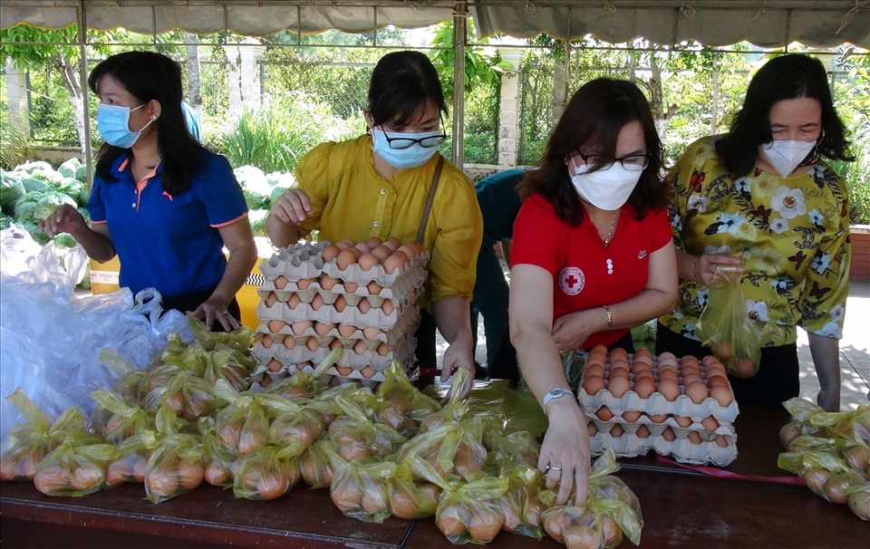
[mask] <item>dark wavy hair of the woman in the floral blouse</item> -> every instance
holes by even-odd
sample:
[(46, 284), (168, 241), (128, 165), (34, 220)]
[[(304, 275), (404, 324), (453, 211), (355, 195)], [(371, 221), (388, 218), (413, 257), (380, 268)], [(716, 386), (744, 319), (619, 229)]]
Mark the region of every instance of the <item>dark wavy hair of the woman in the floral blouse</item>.
[(754, 169), (759, 145), (773, 139), (770, 133), (773, 104), (802, 97), (815, 99), (822, 106), (822, 139), (810, 154), (828, 159), (855, 159), (849, 155), (846, 126), (834, 110), (825, 65), (804, 53), (791, 53), (771, 59), (755, 73), (730, 131), (716, 142), (722, 166), (732, 177), (745, 176)]

